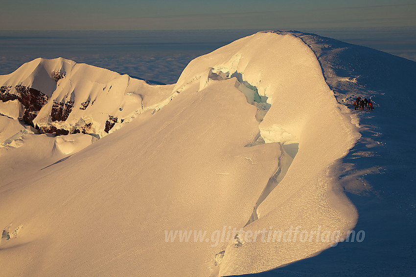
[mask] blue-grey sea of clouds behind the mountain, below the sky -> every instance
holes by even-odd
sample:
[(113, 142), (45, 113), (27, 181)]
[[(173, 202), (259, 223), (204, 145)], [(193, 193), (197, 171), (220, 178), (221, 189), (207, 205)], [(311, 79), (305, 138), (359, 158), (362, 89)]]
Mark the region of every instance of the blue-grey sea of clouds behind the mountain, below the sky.
[[(194, 58), (259, 30), (0, 31), (0, 75), (36, 58), (63, 57), (173, 84)], [(415, 29), (305, 29), (416, 61)]]

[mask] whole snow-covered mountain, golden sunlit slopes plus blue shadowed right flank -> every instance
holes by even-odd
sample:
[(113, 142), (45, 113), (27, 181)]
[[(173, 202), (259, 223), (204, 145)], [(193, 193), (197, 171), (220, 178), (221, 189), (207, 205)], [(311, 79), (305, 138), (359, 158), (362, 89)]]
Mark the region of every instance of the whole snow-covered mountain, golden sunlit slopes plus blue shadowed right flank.
[[(0, 111), (8, 115), (0, 116), (0, 135), (13, 134), (4, 136), (0, 149), (0, 172), (7, 172), (0, 182), (0, 256), (13, 257), (6, 274), (263, 272), (316, 256), (337, 241), (244, 234), (296, 227), (300, 234), (325, 230), (345, 238), (357, 219), (362, 223), (344, 191), (384, 193), (392, 210), (399, 195), (408, 210), (395, 217), (402, 216), (404, 229), (414, 224), (404, 219), (414, 213), (414, 190), (406, 181), (414, 180), (408, 170), (415, 162), (406, 154), (415, 151), (415, 123), (403, 122), (414, 115), (400, 108), (404, 101), (414, 107), (413, 92), (401, 91), (411, 87), (406, 78), (414, 76), (414, 62), (294, 31), (260, 32), (196, 58), (174, 85), (146, 85), (101, 68), (71, 67), (64, 59), (35, 61), (19, 74), (0, 76), (7, 100)], [(39, 76), (45, 82), (36, 81)], [(24, 100), (11, 98), (23, 99), (30, 89), (47, 101), (26, 112)], [(30, 95), (42, 96), (36, 93)], [(351, 110), (358, 95), (372, 97), (375, 110)], [(36, 130), (15, 120), (25, 112), (35, 116), (34, 126), (73, 134), (32, 134)], [(110, 115), (129, 123), (104, 137)], [(52, 120), (58, 117), (65, 120)], [(87, 117), (94, 131), (75, 133)], [(407, 126), (410, 136), (395, 136), (392, 126)], [(404, 184), (400, 192), (391, 187), (397, 180)], [(374, 207), (366, 203), (363, 211), (356, 198), (354, 204), (377, 226)], [(230, 240), (165, 239), (168, 231), (216, 234), (224, 227), (240, 231)], [(377, 236), (367, 230), (372, 245)], [(350, 249), (367, 251), (362, 245)], [(348, 247), (330, 251), (357, 256)]]

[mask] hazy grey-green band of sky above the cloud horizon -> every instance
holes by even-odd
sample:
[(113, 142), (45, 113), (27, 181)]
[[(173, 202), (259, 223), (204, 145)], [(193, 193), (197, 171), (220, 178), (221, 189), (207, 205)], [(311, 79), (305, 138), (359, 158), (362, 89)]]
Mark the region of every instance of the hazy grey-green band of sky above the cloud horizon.
[(416, 27), (415, 0), (0, 0), (0, 30)]

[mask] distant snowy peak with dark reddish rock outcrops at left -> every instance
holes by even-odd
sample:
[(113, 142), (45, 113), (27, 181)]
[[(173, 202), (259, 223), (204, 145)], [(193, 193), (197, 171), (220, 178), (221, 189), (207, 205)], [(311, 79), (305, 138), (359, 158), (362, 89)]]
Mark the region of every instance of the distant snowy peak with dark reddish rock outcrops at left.
[(40, 133), (101, 138), (137, 114), (165, 105), (172, 91), (164, 87), (62, 58), (36, 59), (0, 76), (0, 114), (20, 118)]

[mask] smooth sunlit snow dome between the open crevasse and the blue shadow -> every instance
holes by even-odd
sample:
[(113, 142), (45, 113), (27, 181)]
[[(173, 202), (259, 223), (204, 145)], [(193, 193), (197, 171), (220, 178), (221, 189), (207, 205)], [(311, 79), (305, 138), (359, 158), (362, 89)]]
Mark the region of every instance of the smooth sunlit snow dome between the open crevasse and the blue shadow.
[[(258, 219), (245, 230), (302, 226), (302, 231), (310, 232), (321, 226), (340, 230), (345, 236), (344, 232), (355, 225), (356, 212), (345, 196), (329, 193), (336, 183), (328, 177), (327, 169), (346, 155), (358, 134), (347, 108), (337, 103), (326, 85), (314, 53), (290, 35), (256, 34), (193, 60), (177, 87), (186, 84), (183, 80), (203, 76), (203, 70), (209, 67), (214, 68), (212, 72), (241, 73), (260, 95), (268, 97), (271, 107), (259, 125), (266, 142), (299, 143), (285, 177), (258, 206)], [(337, 209), (332, 202), (338, 204)], [(230, 243), (219, 272), (232, 275), (264, 271), (316, 255), (331, 243), (252, 242), (238, 248)]]

